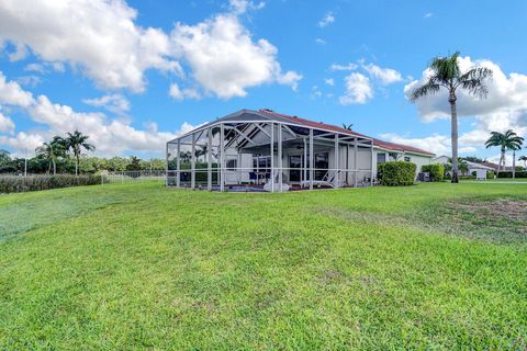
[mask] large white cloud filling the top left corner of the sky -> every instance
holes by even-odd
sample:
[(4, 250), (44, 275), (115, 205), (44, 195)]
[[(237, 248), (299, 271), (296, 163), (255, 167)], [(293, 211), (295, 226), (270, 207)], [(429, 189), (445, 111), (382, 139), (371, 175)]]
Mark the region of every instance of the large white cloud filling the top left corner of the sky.
[(106, 89), (143, 91), (144, 72), (155, 68), (178, 71), (168, 57), (168, 36), (134, 23), (137, 13), (124, 1), (0, 2), (0, 33), (18, 47), (26, 47), (47, 63), (67, 63)]

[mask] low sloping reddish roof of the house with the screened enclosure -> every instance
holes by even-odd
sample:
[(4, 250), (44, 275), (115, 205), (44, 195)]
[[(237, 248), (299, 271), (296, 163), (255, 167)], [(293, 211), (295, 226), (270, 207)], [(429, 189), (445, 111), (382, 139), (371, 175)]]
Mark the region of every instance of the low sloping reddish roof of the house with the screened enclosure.
[[(287, 115), (282, 113), (277, 113), (271, 110), (262, 109), (262, 110), (240, 110), (234, 113), (231, 113), (224, 117), (217, 118), (213, 122), (210, 122), (203, 126), (200, 127), (206, 128), (209, 126), (216, 125), (218, 123), (242, 123), (242, 122), (250, 122), (250, 121), (261, 121), (261, 122), (274, 122), (274, 123), (287, 123), (287, 124), (292, 124), (292, 125), (298, 125), (302, 127), (307, 127), (307, 128), (315, 128), (315, 129), (321, 129), (321, 131), (328, 131), (328, 132), (335, 132), (338, 134), (345, 134), (345, 135), (350, 135), (350, 136), (357, 136), (361, 137), (365, 139), (370, 139), (373, 141), (373, 146), (377, 146), (378, 148), (382, 148), (389, 151), (400, 151), (400, 152), (416, 152), (416, 154), (423, 154), (423, 155), (429, 155), (434, 156), (434, 152), (429, 152), (413, 146), (408, 145), (402, 145), (402, 144), (395, 144), (395, 143), (389, 143), (380, 139), (375, 139), (372, 137), (369, 137), (367, 135), (354, 132), (354, 131), (348, 131), (346, 128), (333, 125), (333, 124), (326, 124), (323, 122), (314, 122), (305, 118), (301, 118), (299, 116), (292, 116), (292, 115)], [(178, 139), (178, 138), (176, 138)]]

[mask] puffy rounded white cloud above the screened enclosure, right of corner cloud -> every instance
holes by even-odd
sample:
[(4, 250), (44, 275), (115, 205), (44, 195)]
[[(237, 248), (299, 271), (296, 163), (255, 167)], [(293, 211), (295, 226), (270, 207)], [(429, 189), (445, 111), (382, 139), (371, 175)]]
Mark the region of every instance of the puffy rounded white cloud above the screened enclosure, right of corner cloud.
[(197, 25), (176, 24), (171, 33), (173, 54), (191, 67), (192, 77), (206, 92), (222, 99), (245, 97), (246, 89), (279, 82), (293, 89), (301, 76), (284, 75), (277, 48), (266, 39), (254, 42), (232, 14), (220, 14)]

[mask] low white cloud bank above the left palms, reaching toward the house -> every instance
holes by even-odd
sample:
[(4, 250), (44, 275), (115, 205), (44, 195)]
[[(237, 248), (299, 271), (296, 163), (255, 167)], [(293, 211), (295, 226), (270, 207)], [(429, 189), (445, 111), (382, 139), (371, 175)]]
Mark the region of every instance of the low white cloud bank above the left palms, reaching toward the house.
[[(3, 77), (1, 72), (0, 75)], [(4, 95), (0, 94), (0, 103), (23, 107), (24, 112), (40, 125), (36, 132), (20, 132), (12, 133), (11, 136), (0, 136), (0, 145), (9, 146), (15, 151), (33, 150), (54, 135), (65, 135), (67, 132), (78, 129), (90, 136), (90, 141), (96, 145), (98, 155), (113, 156), (122, 155), (125, 151), (162, 152), (167, 140), (175, 138), (181, 132), (187, 132), (190, 126), (190, 124), (183, 123), (181, 131), (171, 133), (158, 132), (157, 126), (153, 128), (152, 125), (146, 131), (142, 131), (132, 126), (130, 121), (109, 118), (100, 112), (77, 112), (68, 105), (53, 103), (46, 95), (35, 99), (16, 83), (5, 81), (5, 79), (3, 86), (10, 87), (24, 99), (13, 99), (13, 94), (7, 94), (9, 99), (2, 100)], [(21, 103), (21, 100), (29, 101), (29, 103)]]

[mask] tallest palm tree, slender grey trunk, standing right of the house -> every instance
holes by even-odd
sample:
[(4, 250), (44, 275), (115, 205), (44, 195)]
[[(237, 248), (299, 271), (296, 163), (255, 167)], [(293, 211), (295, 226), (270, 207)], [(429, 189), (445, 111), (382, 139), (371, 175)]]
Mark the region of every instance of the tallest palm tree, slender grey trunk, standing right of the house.
[(459, 53), (448, 57), (436, 57), (431, 60), (429, 70), (431, 72), (428, 81), (422, 87), (412, 91), (411, 101), (435, 94), (441, 88), (448, 91), (448, 102), (451, 114), (452, 135), (452, 183), (458, 182), (458, 111), (456, 92), (458, 88), (467, 90), (476, 98), (486, 98), (489, 90), (484, 84), (485, 79), (492, 78), (492, 70), (485, 67), (473, 67), (462, 72), (458, 65)]

